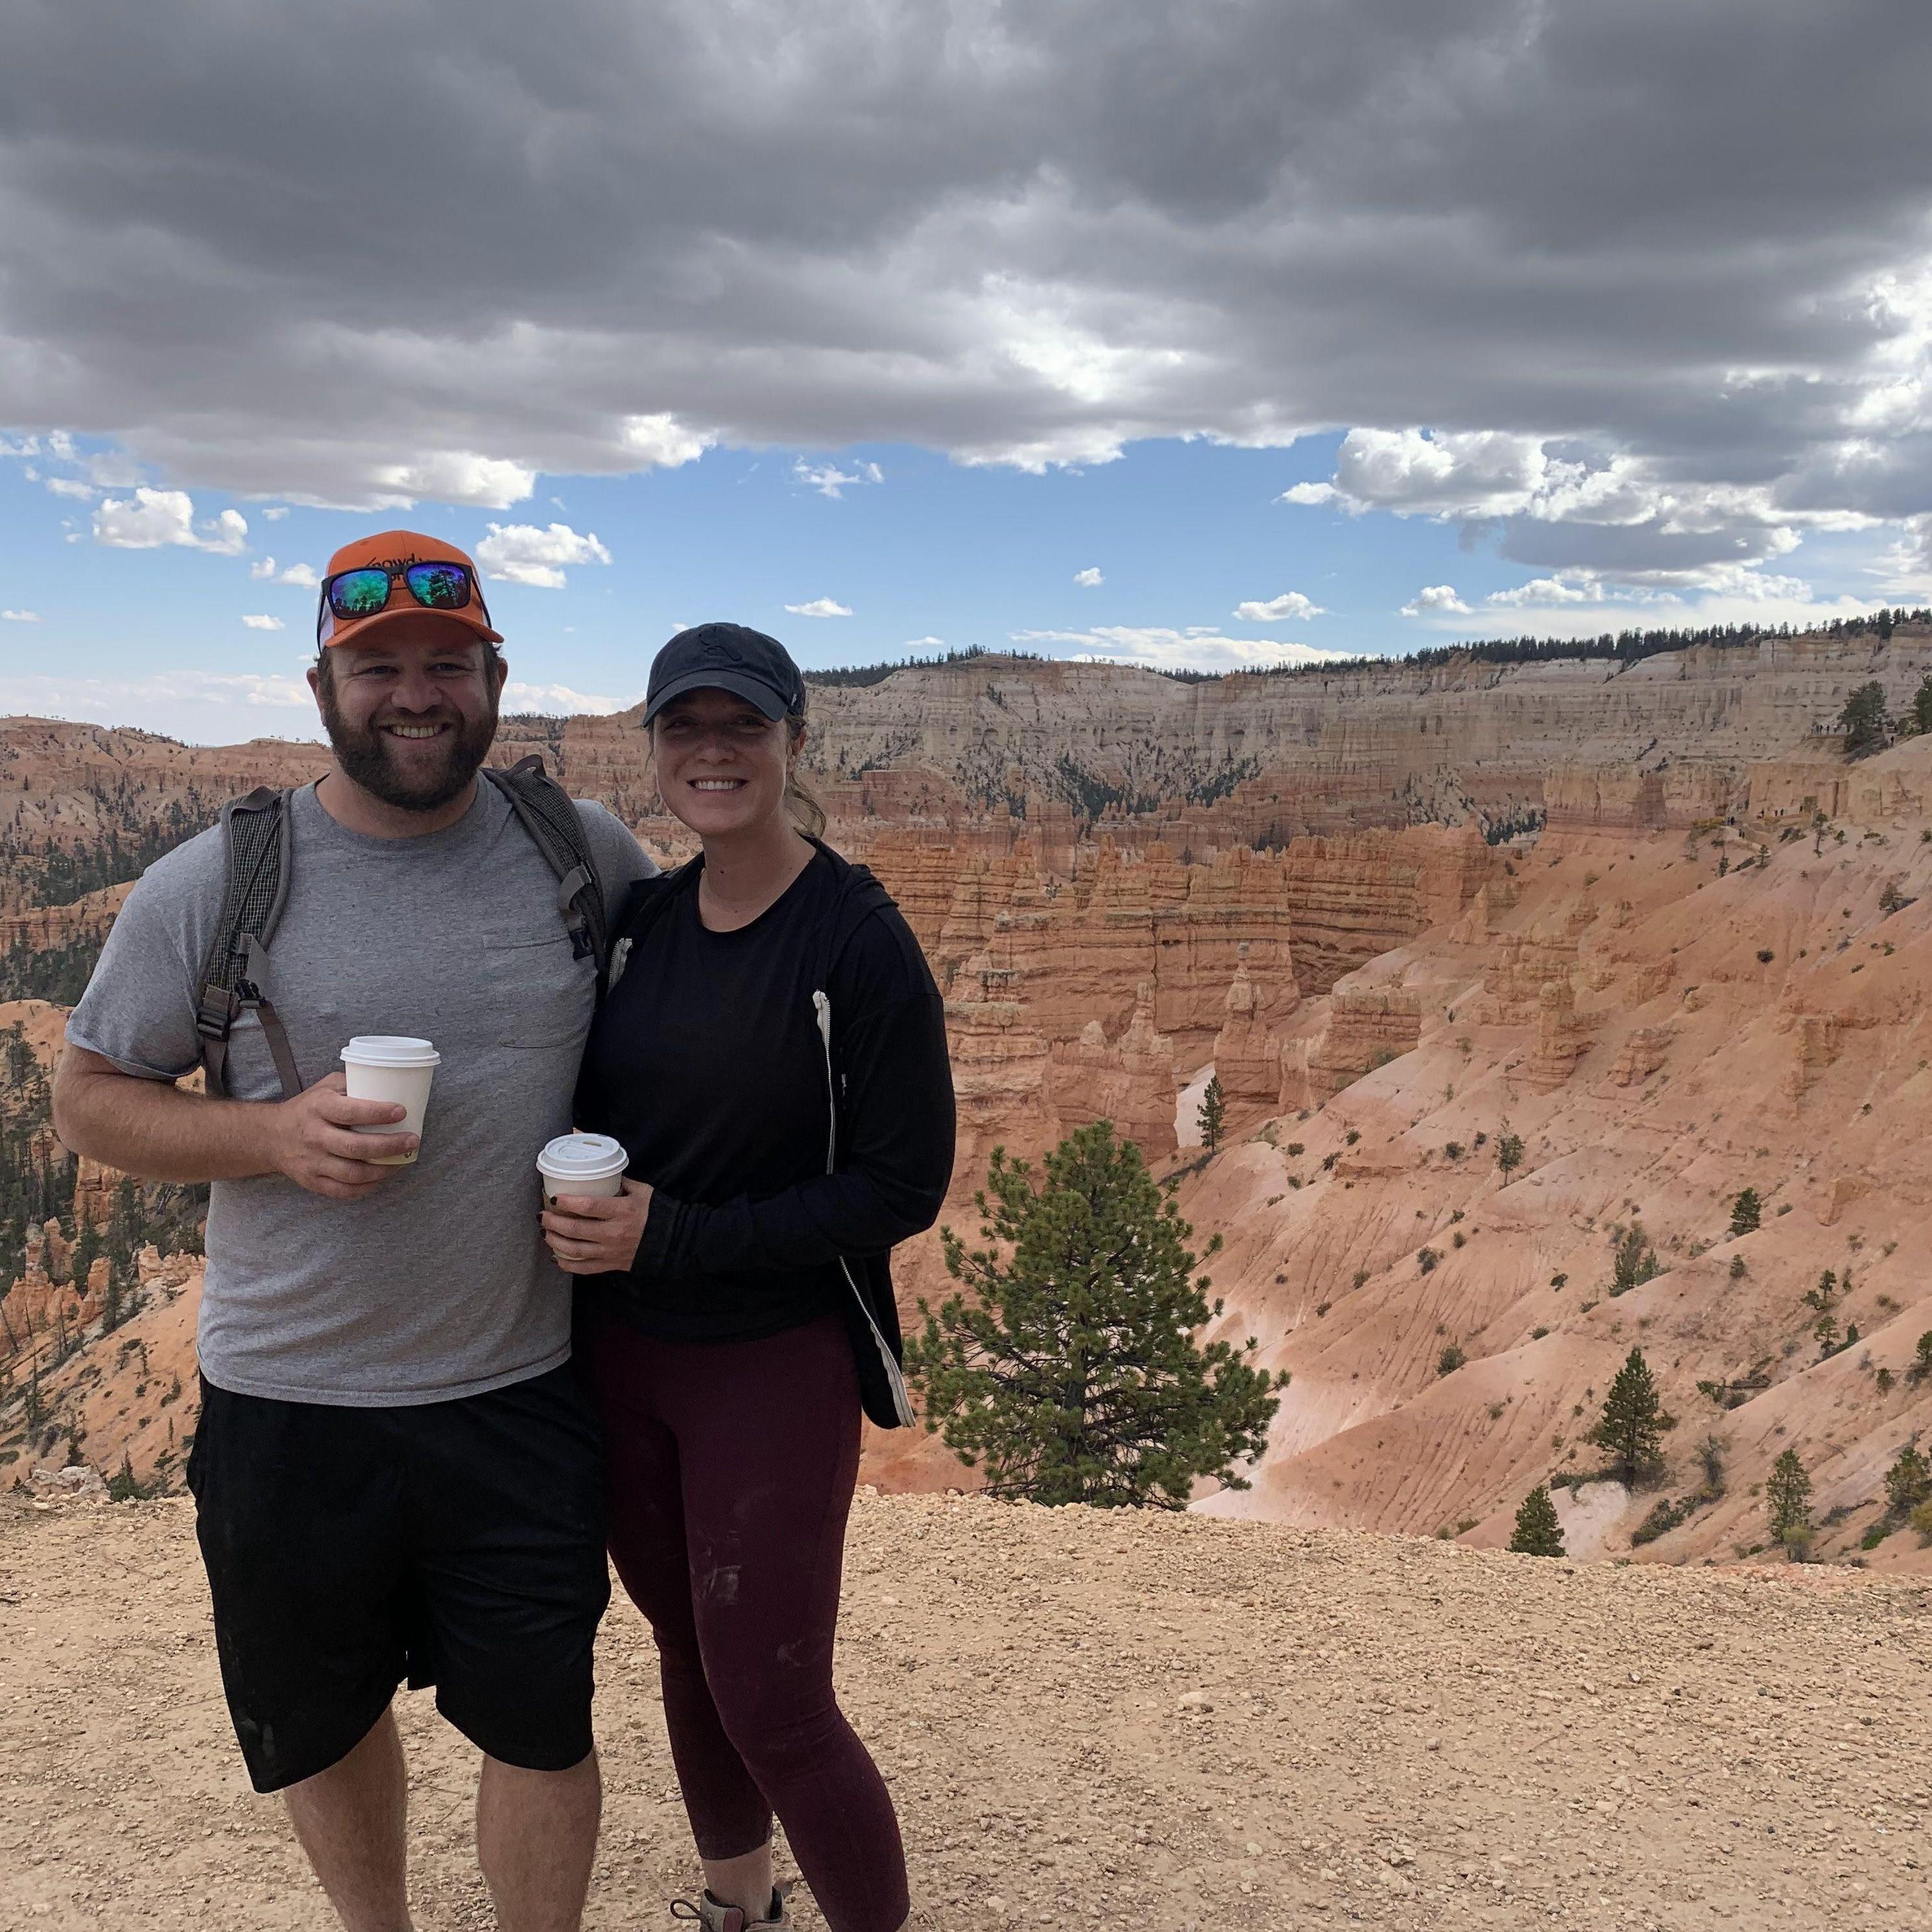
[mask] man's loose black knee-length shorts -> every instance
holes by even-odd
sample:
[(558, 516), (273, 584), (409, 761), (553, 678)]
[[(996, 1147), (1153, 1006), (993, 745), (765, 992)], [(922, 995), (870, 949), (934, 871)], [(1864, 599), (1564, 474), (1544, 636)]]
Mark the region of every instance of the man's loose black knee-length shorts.
[(597, 1424), (568, 1368), (415, 1408), (203, 1379), (187, 1486), (257, 1791), (328, 1770), (404, 1679), (504, 1764), (589, 1752), (611, 1580)]

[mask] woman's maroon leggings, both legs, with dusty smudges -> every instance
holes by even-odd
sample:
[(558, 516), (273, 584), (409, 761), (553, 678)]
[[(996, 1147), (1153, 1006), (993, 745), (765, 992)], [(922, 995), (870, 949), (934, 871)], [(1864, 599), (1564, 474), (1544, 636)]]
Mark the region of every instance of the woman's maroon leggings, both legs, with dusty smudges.
[(906, 1855), (885, 1779), (833, 1694), (858, 1376), (844, 1321), (765, 1341), (653, 1341), (587, 1323), (611, 1559), (651, 1621), (670, 1756), (703, 1859), (771, 1814), (833, 1932), (896, 1932)]

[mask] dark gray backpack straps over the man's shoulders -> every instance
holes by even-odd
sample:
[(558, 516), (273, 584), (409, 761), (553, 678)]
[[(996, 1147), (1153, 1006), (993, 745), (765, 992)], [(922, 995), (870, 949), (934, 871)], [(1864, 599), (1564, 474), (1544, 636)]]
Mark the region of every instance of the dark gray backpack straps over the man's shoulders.
[[(556, 910), (570, 933), (570, 956), (597, 962), (597, 997), (603, 999), (611, 922), (578, 808), (537, 755), (483, 777), (510, 802), (531, 844), (556, 873)], [(288, 904), (290, 796), (263, 784), (222, 808), (222, 912), (195, 987), (195, 1032), (209, 1094), (228, 1094), (228, 1036), (243, 1009), (253, 1009), (261, 1020), (282, 1094), (294, 1099), (301, 1092), (288, 1032), (263, 993), (269, 941)]]

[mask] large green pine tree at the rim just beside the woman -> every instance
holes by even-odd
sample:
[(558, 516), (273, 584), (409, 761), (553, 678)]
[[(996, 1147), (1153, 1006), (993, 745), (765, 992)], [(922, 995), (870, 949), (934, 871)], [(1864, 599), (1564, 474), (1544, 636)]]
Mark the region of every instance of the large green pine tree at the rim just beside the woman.
[(1221, 1302), (1140, 1150), (1099, 1121), (1036, 1180), (995, 1148), (974, 1200), (987, 1246), (941, 1231), (970, 1298), (922, 1300), (925, 1329), (906, 1345), (925, 1428), (983, 1464), (993, 1495), (1184, 1509), (1196, 1476), (1246, 1488), (1236, 1464), (1264, 1449), (1289, 1378), (1252, 1364), (1252, 1337), (1194, 1341)]

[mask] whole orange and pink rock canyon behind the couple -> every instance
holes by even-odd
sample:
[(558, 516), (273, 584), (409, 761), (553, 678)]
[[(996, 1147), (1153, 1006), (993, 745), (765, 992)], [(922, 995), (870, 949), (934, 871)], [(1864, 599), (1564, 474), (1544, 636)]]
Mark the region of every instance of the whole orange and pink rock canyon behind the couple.
[[(1760, 1492), (1789, 1447), (1816, 1555), (1932, 1571), (1884, 1497), (1932, 1430), (1932, 738), (1847, 757), (1835, 732), (1855, 688), (1903, 713), (1928, 674), (1932, 632), (1901, 626), (1634, 663), (1182, 682), (983, 657), (813, 686), (829, 838), (893, 891), (947, 999), (945, 1223), (976, 1231), (995, 1146), (1037, 1157), (1095, 1119), (1173, 1180), (1196, 1244), (1223, 1242), (1213, 1333), (1293, 1378), (1252, 1486), (1204, 1486), (1206, 1517), (1497, 1548), (1555, 1480), (1575, 1557), (1781, 1563)], [(506, 719), (498, 759), (529, 752), (657, 856), (688, 848), (636, 713)], [(126, 866), (323, 759), (0, 721), (0, 952), (97, 943), (128, 891), (97, 877), (104, 844)], [(0, 1007), (33, 1063), (0, 1119), (66, 1190), (0, 1281), (0, 1457), (58, 1464), (77, 1426), (102, 1474), (168, 1484), (197, 1262), (129, 1246), (75, 1279), (118, 1177), (23, 1115), (60, 1018)], [(1743, 1188), (1762, 1221), (1731, 1236)], [(1613, 1279), (1633, 1229), (1656, 1269), (1634, 1285)], [(916, 1321), (947, 1285), (937, 1235), (898, 1277)], [(122, 1281), (137, 1306), (100, 1333)], [(1592, 1480), (1584, 1441), (1633, 1347), (1675, 1416), (1636, 1492)], [(974, 1484), (916, 1432), (871, 1432), (866, 1474)]]

